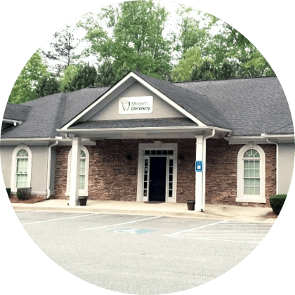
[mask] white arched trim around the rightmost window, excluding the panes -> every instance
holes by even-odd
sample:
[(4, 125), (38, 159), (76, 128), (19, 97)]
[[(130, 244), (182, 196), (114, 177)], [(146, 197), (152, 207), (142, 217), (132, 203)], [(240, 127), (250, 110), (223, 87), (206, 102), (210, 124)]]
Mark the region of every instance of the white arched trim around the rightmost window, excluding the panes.
[[(260, 195), (244, 195), (244, 153), (254, 149), (260, 155)], [(255, 158), (249, 158), (255, 159)], [(237, 198), (236, 202), (266, 203), (265, 199), (265, 153), (259, 145), (244, 145), (237, 154)]]

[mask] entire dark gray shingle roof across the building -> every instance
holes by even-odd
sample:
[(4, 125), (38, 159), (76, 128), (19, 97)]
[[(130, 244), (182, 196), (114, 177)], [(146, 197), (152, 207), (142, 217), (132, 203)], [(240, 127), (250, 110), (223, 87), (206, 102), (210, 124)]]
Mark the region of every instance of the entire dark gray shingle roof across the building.
[[(137, 72), (136, 74), (204, 124), (232, 129), (233, 136), (254, 136), (261, 133), (294, 134), (289, 105), (277, 77), (172, 84)], [(8, 104), (6, 119), (13, 117), (12, 119), (25, 119), (25, 122), (4, 129), (1, 138), (58, 136), (56, 129), (76, 117), (109, 89), (110, 87), (86, 88), (70, 93), (55, 93), (22, 105)], [(86, 124), (84, 127), (91, 128), (94, 126), (92, 124)], [(114, 120), (99, 124), (99, 128), (109, 128), (107, 126), (124, 128), (131, 124), (133, 127), (192, 126), (190, 125), (192, 122), (188, 119), (185, 121), (175, 118), (164, 121), (163, 119), (126, 120), (126, 122)]]

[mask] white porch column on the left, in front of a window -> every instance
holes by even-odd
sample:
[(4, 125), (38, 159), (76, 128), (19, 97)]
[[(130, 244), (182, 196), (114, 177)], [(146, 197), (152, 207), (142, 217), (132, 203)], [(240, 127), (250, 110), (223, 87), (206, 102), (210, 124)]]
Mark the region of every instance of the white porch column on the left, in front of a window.
[(78, 205), (80, 174), (81, 138), (72, 139), (72, 159), (70, 171), (70, 206)]

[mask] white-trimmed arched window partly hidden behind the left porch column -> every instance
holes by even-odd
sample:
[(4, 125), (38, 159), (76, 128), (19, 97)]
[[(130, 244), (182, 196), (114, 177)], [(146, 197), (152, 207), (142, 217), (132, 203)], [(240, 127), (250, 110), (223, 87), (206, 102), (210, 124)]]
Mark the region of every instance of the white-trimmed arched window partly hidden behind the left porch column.
[[(67, 190), (65, 195), (70, 195), (70, 176), (71, 176), (72, 150), (67, 157)], [(79, 172), (79, 196), (88, 196), (88, 177), (89, 177), (89, 152), (86, 147), (81, 147), (80, 153), (80, 172)]]

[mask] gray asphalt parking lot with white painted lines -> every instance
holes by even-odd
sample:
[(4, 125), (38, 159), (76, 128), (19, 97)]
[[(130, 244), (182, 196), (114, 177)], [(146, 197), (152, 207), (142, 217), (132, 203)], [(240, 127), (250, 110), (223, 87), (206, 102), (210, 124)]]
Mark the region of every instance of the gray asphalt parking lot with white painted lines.
[(272, 224), (226, 220), (15, 211), (52, 261), (98, 287), (128, 294), (192, 289), (228, 272)]

